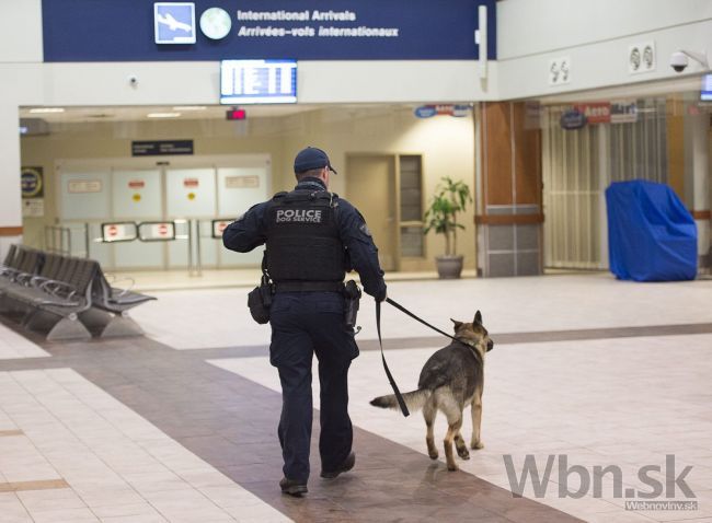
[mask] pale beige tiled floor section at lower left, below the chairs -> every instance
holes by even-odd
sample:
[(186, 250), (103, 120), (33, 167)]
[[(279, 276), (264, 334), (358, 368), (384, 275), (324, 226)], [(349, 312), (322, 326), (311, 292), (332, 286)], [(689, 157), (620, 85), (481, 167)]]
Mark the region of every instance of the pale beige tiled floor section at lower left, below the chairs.
[(0, 522), (289, 521), (70, 369), (0, 373)]

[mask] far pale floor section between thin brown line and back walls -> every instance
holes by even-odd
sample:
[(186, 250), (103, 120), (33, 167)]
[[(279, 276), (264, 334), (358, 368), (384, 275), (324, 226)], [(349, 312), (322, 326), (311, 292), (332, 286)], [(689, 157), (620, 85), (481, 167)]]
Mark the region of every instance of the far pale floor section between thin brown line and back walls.
[[(246, 309), (249, 288), (156, 292), (157, 301), (131, 311), (149, 337), (176, 349), (266, 345), (269, 326)], [(632, 283), (610, 275), (390, 281), (389, 297), (449, 329), (449, 318), (470, 319), (475, 310), (493, 333), (712, 323), (712, 280)], [(361, 300), (357, 339), (376, 339), (374, 301)], [(383, 305), (383, 336), (433, 336)]]

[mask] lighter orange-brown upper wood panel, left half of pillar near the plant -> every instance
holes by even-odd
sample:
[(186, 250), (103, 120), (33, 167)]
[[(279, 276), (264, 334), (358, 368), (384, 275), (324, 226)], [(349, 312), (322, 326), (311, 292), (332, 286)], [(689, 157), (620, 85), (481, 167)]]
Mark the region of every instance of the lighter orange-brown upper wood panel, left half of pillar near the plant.
[(512, 205), (512, 135), (508, 102), (482, 104), (483, 195), (485, 206)]

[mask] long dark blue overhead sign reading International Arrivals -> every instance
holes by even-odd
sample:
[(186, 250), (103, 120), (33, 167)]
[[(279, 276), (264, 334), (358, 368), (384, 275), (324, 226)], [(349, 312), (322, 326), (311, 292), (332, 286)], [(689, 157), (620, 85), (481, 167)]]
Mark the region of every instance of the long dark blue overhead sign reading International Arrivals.
[[(471, 60), (495, 0), (43, 0), (45, 61)], [(378, 79), (375, 79), (378, 81)]]

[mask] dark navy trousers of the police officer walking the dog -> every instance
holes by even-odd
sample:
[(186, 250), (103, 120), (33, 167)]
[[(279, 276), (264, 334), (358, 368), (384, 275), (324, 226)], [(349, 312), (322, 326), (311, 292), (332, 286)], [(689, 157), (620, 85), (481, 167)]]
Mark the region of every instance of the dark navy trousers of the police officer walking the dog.
[(358, 348), (353, 328), (344, 323), (344, 297), (337, 292), (277, 293), (272, 304), (269, 361), (282, 382), (278, 435), (284, 474), (289, 479), (306, 481), (309, 477), (313, 353), (321, 384), (321, 468), (338, 468), (352, 450), (347, 374)]

